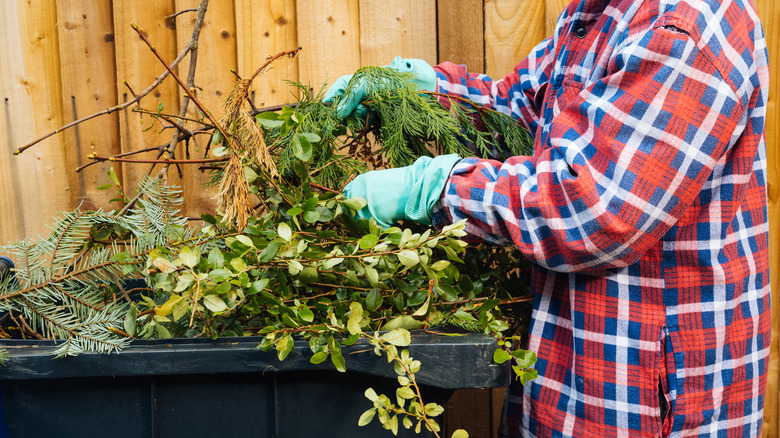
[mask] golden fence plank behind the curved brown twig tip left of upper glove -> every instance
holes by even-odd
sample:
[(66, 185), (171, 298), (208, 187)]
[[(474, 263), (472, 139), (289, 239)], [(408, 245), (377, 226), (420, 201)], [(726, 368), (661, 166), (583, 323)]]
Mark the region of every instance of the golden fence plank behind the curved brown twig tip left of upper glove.
[[(238, 74), (249, 78), (272, 55), (298, 47), (293, 0), (236, 0)], [(276, 64), (252, 82), (250, 98), (258, 107), (295, 99), (285, 80), (298, 79), (298, 60)]]

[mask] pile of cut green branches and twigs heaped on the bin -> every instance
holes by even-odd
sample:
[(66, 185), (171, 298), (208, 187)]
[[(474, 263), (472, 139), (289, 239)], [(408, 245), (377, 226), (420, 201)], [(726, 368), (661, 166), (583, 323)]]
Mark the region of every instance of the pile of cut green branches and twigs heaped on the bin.
[[(340, 119), (337, 105), (321, 101), (322, 90), (295, 83), (298, 102), (252, 108), (252, 81), (297, 52), (270, 57), (251, 78), (238, 78), (219, 120), (191, 91), (192, 77), (181, 80), (161, 59), (203, 115), (198, 132), (211, 136), (203, 159), (192, 163), (208, 163), (218, 213), (190, 223), (179, 211), (180, 191), (158, 172), (120, 210), (77, 209), (58, 218), (46, 239), (0, 247), (17, 263), (13, 277), (0, 278), (0, 311), (7, 314), (0, 335), (56, 340), (57, 356), (120, 351), (133, 339), (257, 335), (259, 347), (280, 360), (297, 337), (308, 341), (312, 363), (329, 359), (340, 371), (341, 347), (363, 338), (395, 361), (399, 384), (409, 390), (401, 393), (413, 395), (419, 363), (397, 347), (408, 344), (410, 329), (438, 327), (495, 337), (494, 360), (512, 361), (523, 381), (533, 378), (534, 354), (517, 348), (518, 316), (530, 299), (522, 287), (528, 266), (517, 250), (468, 245), (462, 222), (441, 231), (414, 223), (384, 230), (355, 217), (365, 200), (341, 194), (361, 172), (422, 155), (526, 155), (528, 134), (476, 104), (450, 100), (445, 108), (442, 96), (419, 92), (408, 73), (381, 67), (359, 70), (347, 87), (348, 96), (357, 83), (381, 84), (368, 91), (365, 118)], [(186, 105), (182, 111), (156, 114), (182, 126), (167, 148), (192, 135), (184, 128), (192, 123), (183, 118)], [(124, 195), (109, 176), (106, 188)], [(143, 282), (130, 286), (137, 283), (129, 279)], [(438, 409), (426, 414), (416, 397), (407, 397), (416, 408), (404, 408), (407, 398), (395, 405), (383, 397), (372, 391), (375, 406), (361, 424), (378, 415), (397, 430), (401, 415), (416, 419), (418, 429), (437, 430), (430, 417)]]

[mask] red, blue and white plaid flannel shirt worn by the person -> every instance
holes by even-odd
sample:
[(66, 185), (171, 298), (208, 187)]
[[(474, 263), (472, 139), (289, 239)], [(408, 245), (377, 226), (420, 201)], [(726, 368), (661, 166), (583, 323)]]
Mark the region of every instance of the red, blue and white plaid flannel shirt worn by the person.
[(435, 67), (534, 136), (462, 160), (434, 212), (535, 262), (505, 436), (760, 435), (767, 56), (751, 0), (580, 0), (503, 80)]

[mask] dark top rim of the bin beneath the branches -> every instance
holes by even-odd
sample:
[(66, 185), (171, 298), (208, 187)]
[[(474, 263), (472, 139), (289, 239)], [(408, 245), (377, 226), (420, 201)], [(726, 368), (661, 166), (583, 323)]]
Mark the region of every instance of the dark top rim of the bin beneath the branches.
[[(506, 366), (493, 362), (496, 341), (481, 333), (445, 336), (411, 330), (411, 356), (422, 363), (418, 383), (445, 389), (490, 388), (506, 384)], [(144, 376), (261, 372), (335, 371), (330, 360), (312, 364), (308, 341), (296, 338), (295, 348), (280, 361), (275, 350), (259, 348), (262, 336), (217, 339), (175, 338), (134, 340), (119, 353), (82, 353), (54, 358), (58, 342), (3, 340), (8, 362), (0, 379), (27, 380), (71, 377)], [(61, 341), (60, 341), (61, 342)], [(376, 356), (366, 340), (342, 347), (347, 372), (396, 378), (392, 364)]]

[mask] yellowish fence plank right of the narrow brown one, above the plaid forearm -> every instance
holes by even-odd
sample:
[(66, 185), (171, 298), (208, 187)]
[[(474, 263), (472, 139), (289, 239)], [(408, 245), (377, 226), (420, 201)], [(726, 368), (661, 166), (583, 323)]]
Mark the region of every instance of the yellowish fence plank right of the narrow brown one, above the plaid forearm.
[(485, 71), (503, 78), (545, 35), (545, 0), (485, 2)]

